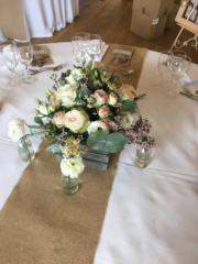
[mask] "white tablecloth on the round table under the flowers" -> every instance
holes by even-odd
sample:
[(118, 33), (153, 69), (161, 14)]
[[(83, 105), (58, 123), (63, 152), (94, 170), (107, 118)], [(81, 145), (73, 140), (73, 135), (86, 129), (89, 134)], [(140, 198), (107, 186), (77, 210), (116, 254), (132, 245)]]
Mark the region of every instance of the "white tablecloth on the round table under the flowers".
[[(73, 67), (70, 43), (48, 48), (56, 65)], [(95, 264), (198, 263), (198, 103), (152, 90), (157, 59), (158, 53), (147, 52), (138, 87), (147, 94), (139, 105), (153, 123), (157, 146), (143, 169), (133, 164), (134, 146), (127, 145), (121, 153)], [(196, 79), (197, 73), (198, 66), (191, 65), (188, 76)], [(51, 73), (37, 76), (38, 82), (11, 88), (8, 72), (0, 72), (0, 207), (25, 167), (7, 136), (8, 122), (22, 118), (32, 124), (33, 98), (44, 100), (44, 91), (52, 87)]]

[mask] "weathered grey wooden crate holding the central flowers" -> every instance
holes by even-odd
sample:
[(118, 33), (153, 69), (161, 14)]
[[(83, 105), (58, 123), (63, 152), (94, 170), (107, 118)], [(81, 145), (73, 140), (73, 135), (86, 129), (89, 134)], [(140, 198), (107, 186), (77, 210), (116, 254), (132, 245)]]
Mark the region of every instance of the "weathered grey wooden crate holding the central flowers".
[[(81, 144), (80, 148), (86, 145)], [(87, 146), (87, 145), (86, 145)], [(87, 146), (88, 147), (88, 146)], [(84, 164), (86, 167), (97, 168), (101, 170), (107, 170), (109, 165), (110, 153), (105, 151), (97, 151), (88, 147), (88, 151), (81, 154)], [(61, 162), (63, 158), (63, 154), (55, 153), (56, 161)]]

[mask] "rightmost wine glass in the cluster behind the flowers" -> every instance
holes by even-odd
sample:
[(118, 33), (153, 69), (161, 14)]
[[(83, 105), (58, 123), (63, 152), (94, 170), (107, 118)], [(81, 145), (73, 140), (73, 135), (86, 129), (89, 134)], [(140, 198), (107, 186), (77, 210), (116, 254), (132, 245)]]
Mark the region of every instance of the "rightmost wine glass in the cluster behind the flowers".
[(96, 57), (101, 52), (101, 37), (96, 34), (90, 34), (90, 43), (89, 43), (89, 50), (88, 54), (91, 57), (92, 63), (95, 63)]

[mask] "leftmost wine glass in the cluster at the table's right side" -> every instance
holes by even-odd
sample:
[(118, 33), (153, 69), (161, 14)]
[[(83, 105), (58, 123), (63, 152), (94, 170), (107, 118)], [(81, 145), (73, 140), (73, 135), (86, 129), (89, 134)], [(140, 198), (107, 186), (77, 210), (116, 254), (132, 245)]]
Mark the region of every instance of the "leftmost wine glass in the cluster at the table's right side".
[(163, 91), (164, 90), (163, 78), (169, 70), (168, 65), (169, 65), (169, 56), (170, 55), (172, 55), (172, 53), (168, 52), (168, 51), (164, 51), (160, 54), (158, 63), (157, 63), (157, 74), (158, 74), (158, 77), (160, 77), (160, 81), (158, 81), (157, 85), (155, 85), (153, 87), (153, 89), (155, 91)]

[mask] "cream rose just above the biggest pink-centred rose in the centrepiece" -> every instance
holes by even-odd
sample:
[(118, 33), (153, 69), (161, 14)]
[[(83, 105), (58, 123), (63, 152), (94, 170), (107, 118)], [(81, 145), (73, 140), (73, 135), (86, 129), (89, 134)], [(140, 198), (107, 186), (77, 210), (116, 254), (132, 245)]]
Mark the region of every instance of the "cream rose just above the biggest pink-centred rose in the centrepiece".
[(73, 107), (73, 101), (76, 98), (76, 91), (70, 85), (61, 86), (55, 92), (57, 100), (62, 101), (62, 106), (66, 108)]

